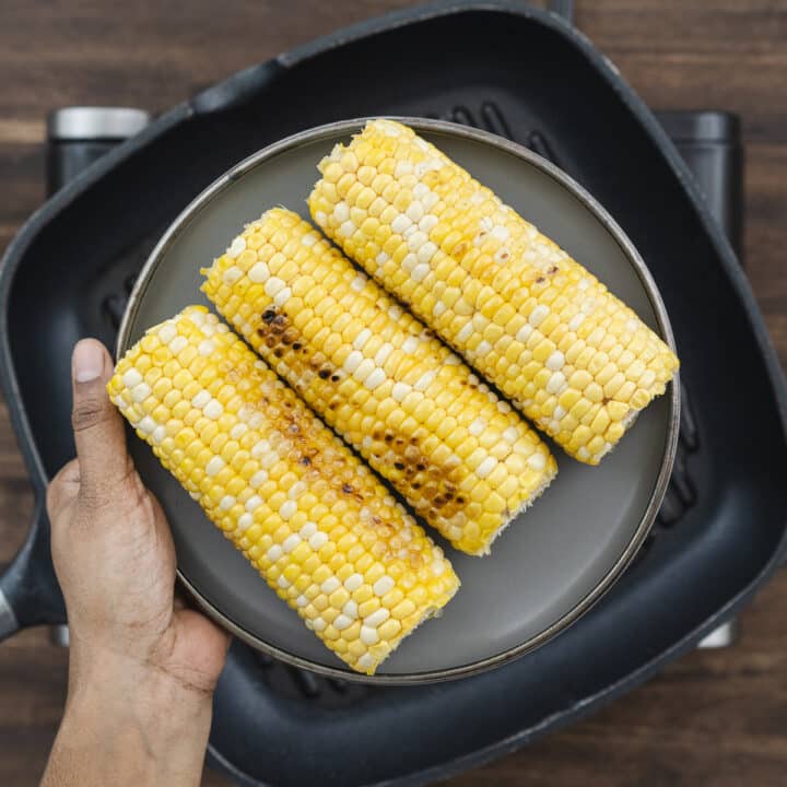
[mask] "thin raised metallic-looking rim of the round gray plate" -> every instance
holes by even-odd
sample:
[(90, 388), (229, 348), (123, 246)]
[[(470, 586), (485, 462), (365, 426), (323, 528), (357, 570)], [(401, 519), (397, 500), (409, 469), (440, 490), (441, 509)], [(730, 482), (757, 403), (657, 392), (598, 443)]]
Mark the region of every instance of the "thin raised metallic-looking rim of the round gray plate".
[[(363, 126), (373, 119), (387, 118), (397, 120), (407, 126), (410, 126), (416, 131), (425, 131), (427, 133), (446, 134), (448, 137), (459, 137), (469, 139), (474, 142), (490, 145), (496, 150), (503, 151), (507, 154), (518, 157), (536, 168), (540, 169), (543, 174), (552, 178), (557, 183), (559, 186), (572, 193), (583, 205), (590, 211), (590, 213), (601, 223), (607, 232), (612, 236), (614, 242), (621, 248), (624, 257), (634, 269), (635, 273), (639, 278), (642, 285), (645, 290), (645, 294), (650, 302), (656, 316), (656, 322), (658, 331), (661, 334), (661, 339), (670, 346), (674, 352), (674, 337), (672, 333), (672, 327), (665, 307), (661, 294), (656, 285), (650, 271), (648, 270), (645, 261), (639, 256), (634, 244), (629, 239), (626, 234), (623, 232), (621, 226), (612, 219), (609, 212), (596, 200), (587, 190), (585, 190), (576, 180), (569, 175), (563, 172), (560, 167), (555, 166), (552, 162), (543, 158), (542, 156), (533, 153), (522, 145), (512, 142), (510, 140), (504, 139), (496, 134), (481, 129), (470, 128), (460, 124), (450, 122), (447, 120), (436, 120), (431, 118), (415, 118), (406, 116), (392, 116), (392, 115), (380, 115), (362, 118), (351, 118), (346, 120), (338, 120), (330, 124), (324, 124), (321, 126), (315, 126), (308, 129), (297, 131), (296, 133), (290, 134), (281, 140), (278, 140), (265, 148), (256, 151), (251, 155), (247, 156), (236, 165), (227, 169), (223, 175), (213, 180), (207, 186), (186, 208), (176, 216), (176, 219), (169, 224), (167, 230), (164, 232), (160, 240), (150, 252), (145, 263), (142, 266), (134, 286), (129, 296), (129, 301), (126, 310), (120, 322), (118, 330), (118, 337), (115, 344), (115, 356), (120, 357), (126, 350), (130, 346), (129, 337), (131, 333), (131, 327), (134, 324), (137, 315), (139, 313), (142, 299), (145, 296), (148, 287), (154, 272), (157, 270), (162, 262), (166, 251), (177, 240), (180, 234), (186, 230), (188, 224), (199, 218), (199, 213), (210, 205), (212, 199), (219, 193), (227, 189), (235, 180), (238, 180), (247, 173), (255, 169), (260, 164), (268, 160), (271, 160), (284, 152), (297, 149), (305, 144), (318, 142), (322, 139), (336, 137), (338, 134), (350, 136), (360, 131)], [(297, 654), (284, 650), (261, 637), (251, 634), (246, 629), (237, 624), (224, 612), (220, 611), (208, 598), (205, 598), (197, 587), (186, 577), (180, 569), (179, 565), (176, 568), (178, 582), (185, 587), (196, 604), (205, 613), (209, 618), (220, 623), (224, 629), (228, 630), (234, 636), (238, 637), (245, 644), (260, 650), (273, 658), (290, 663), (301, 669), (306, 669), (318, 674), (322, 674), (329, 678), (338, 678), (342, 680), (350, 680), (357, 683), (369, 683), (377, 685), (414, 685), (414, 684), (426, 684), (437, 683), (448, 680), (456, 680), (459, 678), (467, 678), (473, 674), (485, 672), (495, 667), (500, 667), (508, 661), (524, 656), (530, 653), (547, 642), (557, 636), (561, 632), (565, 631), (577, 620), (579, 620), (586, 612), (588, 612), (614, 585), (614, 583), (622, 576), (625, 568), (631, 564), (634, 556), (639, 551), (639, 548), (644, 543), (650, 528), (656, 519), (659, 507), (663, 500), (663, 495), (667, 491), (670, 474), (672, 472), (672, 466), (674, 463), (676, 453), (678, 448), (678, 434), (680, 426), (680, 408), (681, 408), (681, 396), (680, 396), (680, 373), (677, 373), (668, 384), (665, 397), (669, 401), (669, 419), (668, 428), (665, 441), (665, 449), (661, 457), (661, 463), (659, 472), (656, 477), (654, 489), (648, 500), (648, 504), (643, 512), (643, 515), (634, 529), (631, 539), (626, 543), (625, 549), (618, 556), (612, 566), (606, 572), (602, 579), (597, 583), (592, 589), (587, 592), (574, 607), (567, 612), (561, 615), (552, 624), (543, 629), (538, 634), (529, 637), (528, 639), (519, 643), (518, 645), (507, 648), (501, 653), (488, 656), (483, 659), (459, 665), (457, 667), (450, 667), (448, 669), (441, 670), (425, 670), (421, 672), (402, 672), (396, 674), (374, 674), (365, 676), (359, 672), (352, 671), (350, 668), (343, 667), (330, 667), (324, 663), (312, 661), (308, 658), (298, 656)]]

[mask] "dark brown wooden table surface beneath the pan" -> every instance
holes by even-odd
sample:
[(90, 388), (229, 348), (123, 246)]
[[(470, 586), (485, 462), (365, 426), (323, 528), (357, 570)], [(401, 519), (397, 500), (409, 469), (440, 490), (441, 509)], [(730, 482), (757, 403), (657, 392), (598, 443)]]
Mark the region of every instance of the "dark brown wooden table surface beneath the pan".
[[(161, 110), (314, 36), (411, 4), (2, 0), (0, 249), (44, 198), (43, 119), (50, 108)], [(787, 361), (787, 1), (588, 0), (578, 3), (576, 21), (651, 106), (742, 116), (748, 272)], [(22, 542), (32, 506), (0, 403), (0, 566)], [(787, 784), (786, 612), (787, 569), (744, 612), (733, 648), (690, 654), (592, 718), (449, 784)], [(45, 631), (0, 647), (0, 785), (37, 782), (61, 714), (66, 662)], [(204, 784), (226, 782), (207, 772)]]

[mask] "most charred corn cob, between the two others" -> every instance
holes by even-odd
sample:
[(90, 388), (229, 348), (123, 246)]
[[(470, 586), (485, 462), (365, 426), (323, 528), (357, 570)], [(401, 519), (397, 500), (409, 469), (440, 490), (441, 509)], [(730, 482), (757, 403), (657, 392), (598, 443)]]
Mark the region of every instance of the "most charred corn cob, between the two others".
[(458, 549), (552, 480), (538, 435), (296, 213), (268, 211), (202, 290), (251, 346)]

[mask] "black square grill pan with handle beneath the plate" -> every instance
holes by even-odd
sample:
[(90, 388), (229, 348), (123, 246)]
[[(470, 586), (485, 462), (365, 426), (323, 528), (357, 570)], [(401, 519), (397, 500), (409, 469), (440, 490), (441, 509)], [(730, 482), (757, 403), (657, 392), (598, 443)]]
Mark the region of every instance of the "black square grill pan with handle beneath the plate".
[[(396, 77), (389, 62), (399, 63)], [(482, 126), (551, 157), (592, 193), (665, 298), (690, 419), (647, 551), (582, 621), (509, 666), (428, 689), (369, 689), (290, 671), (235, 644), (211, 753), (244, 784), (421, 783), (512, 751), (692, 647), (785, 552), (787, 490), (771, 480), (787, 459), (782, 373), (676, 149), (564, 21), (521, 3), (439, 3), (320, 39), (176, 107), (60, 191), (8, 249), (0, 360), (38, 507), (0, 580), (13, 608), (0, 611), (3, 633), (62, 620), (42, 505), (46, 479), (73, 453), (73, 341), (113, 344), (154, 240), (234, 162), (309, 126), (381, 114)]]

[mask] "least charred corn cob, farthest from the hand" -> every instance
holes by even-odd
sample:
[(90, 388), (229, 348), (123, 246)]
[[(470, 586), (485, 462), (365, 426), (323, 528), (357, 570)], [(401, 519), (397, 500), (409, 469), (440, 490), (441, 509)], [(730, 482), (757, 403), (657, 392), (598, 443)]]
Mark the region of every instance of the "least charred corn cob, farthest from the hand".
[(634, 312), (412, 129), (371, 121), (319, 169), (317, 224), (577, 459), (673, 377)]

